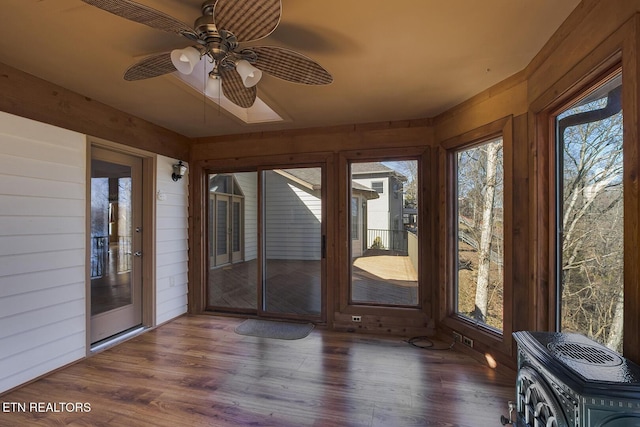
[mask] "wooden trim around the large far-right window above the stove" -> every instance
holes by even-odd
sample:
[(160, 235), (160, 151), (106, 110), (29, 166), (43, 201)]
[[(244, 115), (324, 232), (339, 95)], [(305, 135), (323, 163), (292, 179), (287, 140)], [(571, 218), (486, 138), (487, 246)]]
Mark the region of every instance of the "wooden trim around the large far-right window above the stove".
[[(638, 37), (640, 36), (640, 17), (630, 19), (606, 40), (599, 44), (588, 56), (583, 57), (560, 78), (549, 86), (530, 104), (531, 120), (535, 120), (532, 129), (532, 211), (531, 221), (532, 250), (531, 273), (532, 295), (534, 297), (534, 316), (531, 330), (552, 330), (555, 326), (555, 277), (553, 274), (555, 247), (552, 218), (555, 196), (551, 186), (555, 182), (553, 175), (553, 126), (552, 113), (563, 104), (570, 102), (594, 82), (616, 68), (622, 68), (622, 109), (624, 111), (624, 185), (636, 188), (640, 173), (640, 95), (638, 76), (640, 75), (640, 56), (638, 55)], [(640, 247), (640, 195), (632, 191), (625, 194), (625, 255), (626, 266), (638, 264)], [(640, 270), (625, 267), (625, 314), (624, 330), (637, 331), (640, 328)], [(624, 337), (624, 355), (640, 363), (640, 335), (627, 332)]]

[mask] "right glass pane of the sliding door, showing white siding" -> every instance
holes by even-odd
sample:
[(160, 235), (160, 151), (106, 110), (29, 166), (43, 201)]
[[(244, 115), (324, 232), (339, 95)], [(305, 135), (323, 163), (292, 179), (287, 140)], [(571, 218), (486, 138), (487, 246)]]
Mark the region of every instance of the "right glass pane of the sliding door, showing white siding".
[(263, 172), (264, 309), (319, 315), (321, 308), (321, 168)]

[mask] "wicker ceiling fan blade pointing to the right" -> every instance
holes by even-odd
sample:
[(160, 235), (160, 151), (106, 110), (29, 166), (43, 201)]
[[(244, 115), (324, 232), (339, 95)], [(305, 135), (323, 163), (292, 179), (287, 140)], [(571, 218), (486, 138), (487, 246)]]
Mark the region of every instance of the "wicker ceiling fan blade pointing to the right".
[(333, 81), (327, 70), (313, 59), (276, 46), (252, 47), (258, 55), (255, 66), (260, 70), (293, 83), (326, 85)]

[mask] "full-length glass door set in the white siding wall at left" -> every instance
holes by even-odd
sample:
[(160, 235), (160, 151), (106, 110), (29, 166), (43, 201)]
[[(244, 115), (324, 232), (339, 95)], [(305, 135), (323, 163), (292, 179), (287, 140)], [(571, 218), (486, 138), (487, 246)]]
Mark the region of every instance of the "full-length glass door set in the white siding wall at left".
[(91, 149), (91, 343), (142, 324), (142, 159)]

